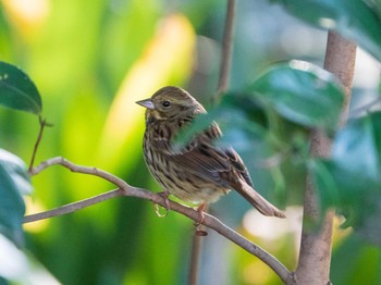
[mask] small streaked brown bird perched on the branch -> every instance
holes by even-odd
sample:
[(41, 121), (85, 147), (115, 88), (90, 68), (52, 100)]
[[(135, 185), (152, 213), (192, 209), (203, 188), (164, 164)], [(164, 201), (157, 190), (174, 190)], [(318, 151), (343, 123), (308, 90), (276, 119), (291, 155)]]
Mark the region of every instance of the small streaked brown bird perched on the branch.
[(196, 135), (183, 149), (173, 147), (179, 132), (206, 113), (187, 91), (168, 86), (137, 103), (147, 108), (145, 161), (164, 193), (200, 205), (202, 214), (206, 205), (235, 189), (262, 214), (285, 218), (254, 190), (248, 171), (235, 150), (216, 146), (222, 136), (217, 123)]

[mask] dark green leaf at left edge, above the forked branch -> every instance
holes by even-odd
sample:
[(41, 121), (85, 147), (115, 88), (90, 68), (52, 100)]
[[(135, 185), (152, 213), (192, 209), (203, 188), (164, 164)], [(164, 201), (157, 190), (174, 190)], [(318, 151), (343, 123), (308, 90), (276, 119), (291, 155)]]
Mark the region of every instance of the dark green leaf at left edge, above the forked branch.
[(40, 114), (42, 102), (35, 84), (21, 70), (0, 61), (0, 104)]

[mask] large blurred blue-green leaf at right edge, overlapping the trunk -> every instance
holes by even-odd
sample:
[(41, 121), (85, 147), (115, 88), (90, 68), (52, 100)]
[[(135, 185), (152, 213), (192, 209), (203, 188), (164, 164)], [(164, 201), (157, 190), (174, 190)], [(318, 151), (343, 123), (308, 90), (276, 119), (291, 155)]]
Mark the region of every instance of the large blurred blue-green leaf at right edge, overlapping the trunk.
[(381, 245), (381, 112), (348, 122), (333, 141), (332, 158), (309, 163), (323, 210), (335, 207), (343, 226)]

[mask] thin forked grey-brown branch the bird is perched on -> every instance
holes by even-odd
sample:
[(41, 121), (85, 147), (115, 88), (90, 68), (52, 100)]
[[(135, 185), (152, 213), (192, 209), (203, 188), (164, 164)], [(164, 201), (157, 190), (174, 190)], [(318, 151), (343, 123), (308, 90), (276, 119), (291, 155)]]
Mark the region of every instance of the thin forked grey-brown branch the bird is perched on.
[[(77, 211), (79, 209), (84, 209), (86, 207), (89, 207), (91, 205), (96, 205), (102, 201), (106, 201), (111, 198), (120, 197), (120, 196), (128, 196), (128, 197), (136, 197), (145, 200), (149, 200), (153, 203), (160, 205), (162, 207), (165, 207), (165, 199), (159, 194), (149, 191), (147, 189), (137, 188), (134, 186), (128, 185), (123, 179), (112, 175), (111, 173), (108, 173), (106, 171), (99, 170), (97, 168), (87, 168), (87, 166), (81, 166), (76, 165), (69, 160), (58, 157), (49, 159), (39, 165), (35, 166), (30, 170), (32, 175), (36, 175), (40, 173), (41, 171), (46, 170), (47, 168), (50, 168), (52, 165), (62, 165), (72, 172), (83, 173), (83, 174), (89, 174), (95, 175), (98, 177), (101, 177), (108, 182), (113, 183), (118, 186), (118, 189), (82, 200), (74, 203), (65, 205), (60, 208), (37, 213), (37, 214), (30, 214), (26, 215), (24, 219), (24, 223), (35, 222), (57, 215), (63, 215), (66, 213), (71, 213), (74, 211)], [(180, 205), (174, 201), (169, 201), (171, 210), (181, 213), (183, 215), (188, 216), (189, 219), (194, 220), (195, 222), (199, 221), (199, 213), (194, 210), (193, 208)], [(255, 245), (237, 232), (233, 231), (225, 224), (223, 224), (221, 221), (219, 221), (217, 218), (205, 213), (205, 220), (202, 223), (205, 226), (214, 230), (220, 235), (224, 236), (225, 238), (230, 239), (241, 248), (245, 249), (246, 251), (250, 252), (251, 255), (259, 258), (261, 261), (263, 261), (266, 264), (268, 264), (279, 276), (280, 278), (286, 283), (286, 284), (293, 284), (291, 281), (293, 280), (292, 273), (272, 255), (267, 252), (265, 249), (260, 248), (259, 246)]]

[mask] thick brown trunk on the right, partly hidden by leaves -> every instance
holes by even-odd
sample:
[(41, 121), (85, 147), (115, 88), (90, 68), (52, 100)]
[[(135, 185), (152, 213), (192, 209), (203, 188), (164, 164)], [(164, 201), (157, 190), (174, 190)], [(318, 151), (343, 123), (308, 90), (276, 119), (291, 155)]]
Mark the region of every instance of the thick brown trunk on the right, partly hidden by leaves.
[[(355, 59), (356, 45), (330, 32), (328, 35), (324, 69), (335, 74), (344, 86), (345, 103), (340, 120), (341, 126), (344, 125), (347, 120)], [(322, 131), (312, 131), (310, 139), (311, 156), (330, 157), (331, 141)], [(314, 231), (311, 225), (316, 225), (319, 216), (320, 209), (317, 201), (317, 194), (315, 193), (311, 177), (308, 175), (299, 261), (295, 271), (295, 281), (300, 285), (330, 284), (331, 239), (334, 211), (328, 211), (320, 230)]]

